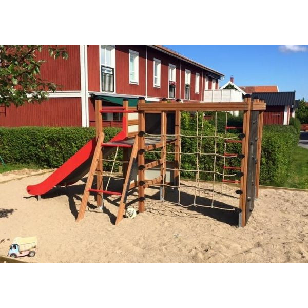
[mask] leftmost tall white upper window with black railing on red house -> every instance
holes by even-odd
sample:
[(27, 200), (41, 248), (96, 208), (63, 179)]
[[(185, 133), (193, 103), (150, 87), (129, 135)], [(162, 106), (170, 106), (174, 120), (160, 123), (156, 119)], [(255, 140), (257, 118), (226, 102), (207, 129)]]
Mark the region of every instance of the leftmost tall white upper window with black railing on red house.
[(102, 91), (114, 92), (115, 49), (113, 46), (101, 46)]

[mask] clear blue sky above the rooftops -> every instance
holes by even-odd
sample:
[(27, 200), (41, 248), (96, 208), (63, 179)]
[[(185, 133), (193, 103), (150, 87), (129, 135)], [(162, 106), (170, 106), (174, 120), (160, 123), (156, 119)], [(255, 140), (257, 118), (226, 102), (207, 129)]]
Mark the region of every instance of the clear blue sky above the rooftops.
[(238, 86), (278, 85), (308, 100), (306, 46), (164, 46), (225, 74), (220, 85), (233, 75)]

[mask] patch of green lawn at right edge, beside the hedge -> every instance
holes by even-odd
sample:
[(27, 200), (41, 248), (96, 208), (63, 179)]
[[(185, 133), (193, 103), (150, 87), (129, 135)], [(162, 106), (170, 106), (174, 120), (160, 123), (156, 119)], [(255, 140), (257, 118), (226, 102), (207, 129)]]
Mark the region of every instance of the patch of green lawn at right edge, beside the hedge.
[(290, 176), (282, 185), (277, 186), (308, 189), (308, 149), (296, 147), (293, 153)]

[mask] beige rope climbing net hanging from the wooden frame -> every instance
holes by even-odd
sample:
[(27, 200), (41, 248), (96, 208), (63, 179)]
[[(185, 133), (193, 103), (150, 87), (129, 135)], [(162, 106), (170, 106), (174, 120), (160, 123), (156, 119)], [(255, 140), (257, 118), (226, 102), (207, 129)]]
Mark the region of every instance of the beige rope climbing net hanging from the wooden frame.
[[(239, 180), (234, 179), (235, 177), (240, 177), (241, 176), (241, 172), (239, 172), (241, 170), (241, 167), (233, 167), (233, 166), (226, 166), (226, 162), (230, 161), (233, 158), (238, 158), (241, 156), (241, 153), (228, 153), (227, 152), (227, 144), (228, 143), (242, 143), (242, 138), (243, 138), (243, 134), (239, 134), (238, 136), (228, 136), (228, 129), (240, 129), (242, 127), (231, 127), (231, 126), (227, 126), (227, 122), (228, 122), (228, 111), (225, 111), (225, 131), (224, 131), (224, 135), (223, 134), (219, 134), (218, 133), (218, 128), (217, 128), (217, 111), (215, 112), (215, 122), (214, 122), (214, 133), (213, 134), (205, 134), (204, 129), (205, 129), (205, 123), (204, 123), (204, 114), (202, 112), (202, 116), (201, 116), (201, 123), (199, 123), (199, 112), (200, 111), (196, 111), (196, 118), (197, 118), (197, 131), (196, 134), (194, 135), (188, 135), (188, 134), (184, 134), (184, 133), (178, 133), (178, 134), (150, 134), (150, 133), (144, 133), (144, 136), (149, 136), (149, 137), (161, 137), (161, 140), (163, 142), (163, 150), (147, 150), (147, 152), (151, 152), (151, 153), (157, 153), (157, 154), (161, 154), (161, 158), (165, 159), (164, 156), (166, 156), (167, 154), (169, 155), (176, 155), (178, 154), (178, 166), (174, 166), (174, 167), (167, 167), (166, 164), (162, 164), (162, 181), (160, 183), (153, 183), (151, 185), (153, 186), (160, 186), (161, 190), (163, 191), (161, 196), (161, 200), (162, 202), (165, 201), (164, 198), (164, 188), (165, 187), (170, 187), (170, 188), (174, 188), (177, 189), (178, 191), (178, 201), (177, 202), (172, 202), (172, 201), (168, 201), (169, 203), (173, 203), (185, 208), (189, 208), (192, 206), (199, 206), (199, 207), (208, 207), (208, 208), (218, 208), (218, 209), (224, 209), (224, 210), (234, 210), (234, 208), (224, 208), (221, 206), (216, 206), (215, 205), (215, 194), (221, 194), (223, 195), (223, 185), (224, 183), (240, 183)], [(166, 123), (165, 123), (166, 119), (165, 117), (162, 117), (162, 127), (165, 127)], [(200, 125), (201, 124), (201, 125)], [(200, 126), (200, 127), (199, 127)], [(166, 150), (166, 142), (167, 142), (167, 138), (176, 138), (179, 140), (179, 146), (178, 146), (178, 151), (170, 151), (170, 150)], [(184, 152), (181, 149), (181, 139), (183, 138), (195, 138), (196, 139), (196, 149), (192, 149), (191, 152)], [(205, 152), (204, 151), (204, 139), (213, 139), (214, 140), (214, 145), (213, 145), (213, 151), (211, 152)], [(219, 152), (218, 151), (218, 140), (223, 140), (224, 141), (224, 145), (223, 145), (223, 152)], [(196, 157), (196, 167), (194, 169), (187, 169), (187, 168), (182, 168), (182, 156), (195, 156)], [(201, 165), (201, 159), (203, 156), (212, 156), (213, 157), (213, 166), (211, 170), (202, 170), (200, 168)], [(217, 166), (217, 158), (222, 158), (223, 159), (223, 168), (222, 171), (219, 171), (219, 168)], [(148, 167), (147, 169), (155, 169), (155, 167)], [(175, 171), (178, 170), (179, 171), (179, 180), (177, 181), (178, 184), (173, 184), (173, 183), (168, 183), (166, 182), (166, 172), (167, 171)], [(228, 170), (228, 172), (226, 172)], [(180, 174), (181, 172), (192, 172), (195, 174), (195, 185), (184, 185), (181, 183), (180, 181)], [(197, 203), (197, 196), (200, 196), (200, 192), (201, 191), (208, 191), (208, 189), (201, 187), (200, 185), (200, 175), (202, 174), (211, 174), (213, 175), (212, 177), (212, 181), (211, 181), (211, 202), (210, 205), (204, 205), (204, 204), (198, 204)], [(217, 176), (220, 176), (222, 178), (221, 180), (221, 191), (217, 191), (216, 185), (217, 185)], [(183, 192), (183, 188), (194, 188), (194, 200), (192, 203), (190, 204), (183, 204), (181, 201), (181, 192)]]

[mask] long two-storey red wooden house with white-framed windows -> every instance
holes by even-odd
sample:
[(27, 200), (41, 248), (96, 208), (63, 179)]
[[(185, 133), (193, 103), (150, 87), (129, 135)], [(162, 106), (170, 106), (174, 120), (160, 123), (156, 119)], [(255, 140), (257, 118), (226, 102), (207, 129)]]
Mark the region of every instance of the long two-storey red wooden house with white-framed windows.
[[(103, 95), (106, 105), (123, 98), (202, 101), (205, 89), (218, 89), (222, 73), (158, 45), (65, 46), (68, 60), (54, 60), (47, 48), (42, 78), (62, 85), (41, 105), (0, 110), (0, 126), (84, 126), (94, 124), (90, 95)], [(105, 114), (105, 125), (120, 126), (121, 114)]]

